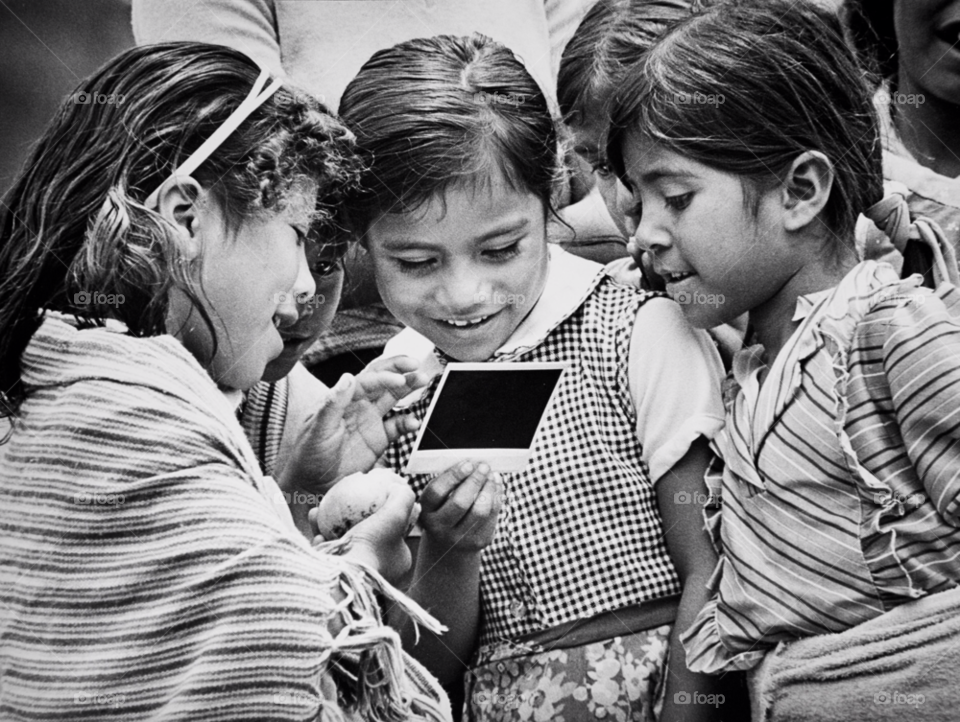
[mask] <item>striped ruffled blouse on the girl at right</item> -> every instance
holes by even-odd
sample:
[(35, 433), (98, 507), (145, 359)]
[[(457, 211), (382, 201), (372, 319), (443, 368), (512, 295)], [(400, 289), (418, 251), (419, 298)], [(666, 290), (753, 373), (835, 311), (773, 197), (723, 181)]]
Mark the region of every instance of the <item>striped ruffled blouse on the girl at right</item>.
[(750, 668), (960, 581), (960, 294), (870, 261), (794, 321), (762, 385), (756, 346), (728, 379), (695, 671)]

